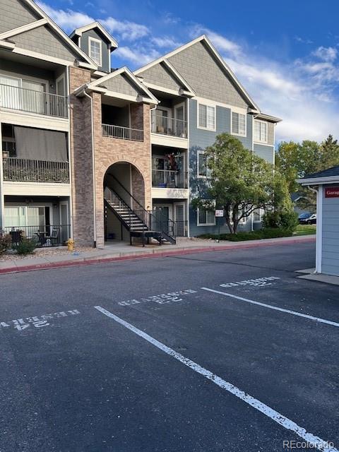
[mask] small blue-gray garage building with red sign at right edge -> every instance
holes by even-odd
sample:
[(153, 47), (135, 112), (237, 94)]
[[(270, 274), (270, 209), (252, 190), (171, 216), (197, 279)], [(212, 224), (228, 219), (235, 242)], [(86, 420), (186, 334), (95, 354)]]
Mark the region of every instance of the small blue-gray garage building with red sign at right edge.
[(316, 190), (316, 273), (339, 276), (339, 166), (298, 182)]

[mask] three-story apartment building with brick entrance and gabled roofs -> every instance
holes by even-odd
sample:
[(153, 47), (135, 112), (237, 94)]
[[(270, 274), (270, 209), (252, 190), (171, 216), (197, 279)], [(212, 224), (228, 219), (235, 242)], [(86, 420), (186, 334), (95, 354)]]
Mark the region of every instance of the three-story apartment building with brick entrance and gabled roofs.
[(261, 113), (206, 36), (132, 73), (111, 69), (118, 44), (100, 23), (67, 37), (32, 0), (0, 7), (3, 229), (41, 245), (175, 243), (216, 230), (214, 213), (190, 201), (206, 191), (203, 150), (218, 133), (274, 162), (279, 119)]

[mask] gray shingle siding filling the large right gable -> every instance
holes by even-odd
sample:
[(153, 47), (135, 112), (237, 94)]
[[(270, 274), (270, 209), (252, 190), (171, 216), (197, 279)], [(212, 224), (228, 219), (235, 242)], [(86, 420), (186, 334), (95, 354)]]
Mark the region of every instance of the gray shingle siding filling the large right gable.
[(247, 107), (242, 95), (202, 42), (191, 45), (168, 60), (191, 85), (198, 97), (236, 107)]

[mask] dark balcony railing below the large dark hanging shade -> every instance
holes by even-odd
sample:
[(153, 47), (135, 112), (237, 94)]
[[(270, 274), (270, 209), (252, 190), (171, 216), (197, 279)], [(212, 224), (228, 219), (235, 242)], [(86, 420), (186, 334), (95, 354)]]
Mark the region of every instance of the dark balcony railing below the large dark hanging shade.
[(69, 184), (69, 162), (4, 157), (4, 181)]

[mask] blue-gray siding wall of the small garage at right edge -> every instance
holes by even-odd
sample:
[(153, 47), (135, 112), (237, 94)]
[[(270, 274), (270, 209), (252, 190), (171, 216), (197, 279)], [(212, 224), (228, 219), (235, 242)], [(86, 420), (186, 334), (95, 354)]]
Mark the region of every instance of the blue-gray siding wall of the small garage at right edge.
[[(324, 186), (324, 188), (326, 188), (326, 186)], [(323, 237), (321, 271), (327, 275), (339, 276), (339, 198), (325, 198), (323, 195), (322, 213)]]

